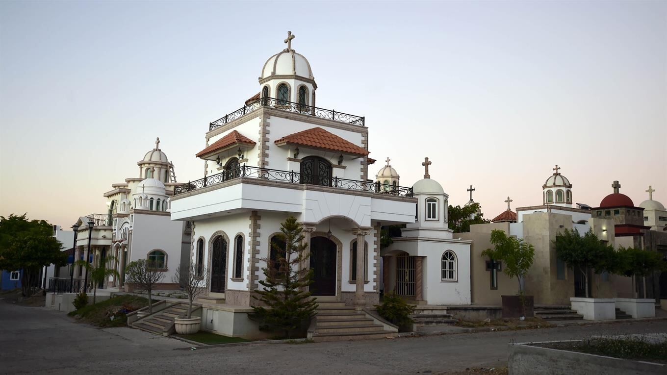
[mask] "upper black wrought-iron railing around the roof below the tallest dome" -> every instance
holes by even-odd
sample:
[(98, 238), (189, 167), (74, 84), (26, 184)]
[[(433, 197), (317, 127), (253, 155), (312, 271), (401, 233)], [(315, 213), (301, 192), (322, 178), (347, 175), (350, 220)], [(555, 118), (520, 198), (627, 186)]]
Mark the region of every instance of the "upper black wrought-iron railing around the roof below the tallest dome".
[(315, 117), (321, 117), (323, 119), (330, 119), (334, 121), (341, 121), (346, 123), (352, 123), (354, 125), (366, 126), (365, 117), (350, 115), (350, 113), (338, 112), (334, 109), (323, 109), (318, 107), (313, 107), (312, 105), (305, 105), (294, 103), (292, 101), (285, 101), (280, 99), (275, 99), (273, 97), (263, 97), (257, 99), (252, 103), (243, 105), (243, 107), (233, 111), (232, 113), (227, 113), (223, 117), (209, 123), (209, 130), (213, 130), (216, 127), (225, 125), (230, 121), (233, 121), (239, 117), (243, 117), (247, 113), (255, 111), (261, 107), (273, 107), (277, 109), (282, 109), (283, 111), (291, 111), (297, 113), (303, 113), (306, 115), (312, 115)]

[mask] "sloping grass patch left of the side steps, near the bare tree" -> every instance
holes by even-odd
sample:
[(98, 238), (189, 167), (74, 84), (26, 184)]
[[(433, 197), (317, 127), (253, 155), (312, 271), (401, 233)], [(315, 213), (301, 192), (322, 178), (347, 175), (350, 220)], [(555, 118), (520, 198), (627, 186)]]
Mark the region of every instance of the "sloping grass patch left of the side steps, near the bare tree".
[[(83, 322), (99, 327), (127, 326), (127, 312), (138, 310), (148, 305), (148, 300), (137, 296), (115, 296), (97, 304), (83, 306), (70, 312)], [(113, 320), (111, 317), (113, 316)]]

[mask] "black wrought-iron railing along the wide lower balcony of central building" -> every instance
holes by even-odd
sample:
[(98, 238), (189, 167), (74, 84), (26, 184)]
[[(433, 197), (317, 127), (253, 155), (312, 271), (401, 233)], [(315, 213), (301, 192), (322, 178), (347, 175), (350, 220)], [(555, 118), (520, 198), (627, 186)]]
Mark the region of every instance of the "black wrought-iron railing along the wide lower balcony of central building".
[(215, 185), (224, 181), (229, 181), (238, 177), (250, 177), (258, 179), (267, 179), (269, 181), (283, 181), (288, 183), (310, 183), (312, 185), (338, 187), (340, 189), (360, 190), (362, 192), (374, 192), (378, 194), (388, 194), (392, 196), (412, 197), (412, 187), (389, 186), (379, 182), (357, 181), (354, 179), (345, 179), (340, 177), (328, 177), (321, 175), (307, 175), (297, 171), (280, 171), (278, 169), (268, 169), (259, 167), (249, 167), (241, 165), (237, 169), (223, 171), (214, 175), (207, 176), (197, 181), (189, 181), (183, 185), (176, 186), (173, 194), (182, 194), (191, 192), (209, 185)]

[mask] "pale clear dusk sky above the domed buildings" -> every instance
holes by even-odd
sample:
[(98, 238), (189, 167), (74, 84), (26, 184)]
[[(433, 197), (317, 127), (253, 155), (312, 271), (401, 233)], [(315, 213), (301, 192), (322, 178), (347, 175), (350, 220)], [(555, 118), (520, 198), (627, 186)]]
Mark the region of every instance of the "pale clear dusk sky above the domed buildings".
[[(667, 2), (0, 3), (0, 215), (69, 227), (106, 212), (160, 137), (179, 181), (208, 123), (259, 91), (268, 57), (309, 60), (317, 106), (366, 116), (401, 185), (430, 175), (486, 218), (619, 180), (667, 205)], [(371, 173), (369, 173), (371, 174)]]

